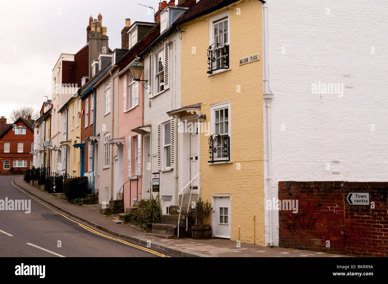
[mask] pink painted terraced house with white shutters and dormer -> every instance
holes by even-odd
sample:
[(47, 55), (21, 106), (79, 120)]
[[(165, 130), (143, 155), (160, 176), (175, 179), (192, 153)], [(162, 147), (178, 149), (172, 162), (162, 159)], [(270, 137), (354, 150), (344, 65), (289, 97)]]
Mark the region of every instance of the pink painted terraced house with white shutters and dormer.
[[(128, 19), (129, 20), (129, 19)], [(127, 21), (128, 21), (127, 20)], [(147, 33), (144, 34), (144, 29)], [(128, 29), (123, 29), (122, 33), (128, 33), (129, 43), (125, 47), (122, 42), (122, 48), (128, 48), (128, 53), (121, 59), (117, 65), (120, 70), (118, 77), (118, 137), (124, 138), (124, 151), (118, 153), (123, 157), (118, 157), (120, 161), (123, 158), (123, 191), (124, 208), (132, 207), (133, 201), (149, 199), (151, 188), (151, 171), (147, 170), (146, 161), (151, 161), (151, 157), (143, 157), (143, 146), (149, 147), (150, 126), (143, 125), (144, 117), (144, 88), (145, 81), (133, 80), (129, 68), (134, 64), (137, 54), (147, 48), (147, 45), (154, 40), (159, 33), (159, 26), (155, 27), (153, 23), (135, 22)], [(132, 33), (142, 34), (142, 38), (133, 40)], [(124, 38), (125, 35), (122, 35)], [(139, 63), (144, 65), (143, 59), (139, 58)], [(141, 80), (144, 80), (144, 72)], [(148, 95), (148, 93), (147, 93)], [(148, 155), (147, 155), (148, 156)], [(143, 159), (145, 169), (143, 169)], [(150, 167), (151, 168), (151, 167)], [(145, 178), (143, 178), (143, 176)]]

